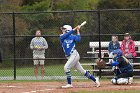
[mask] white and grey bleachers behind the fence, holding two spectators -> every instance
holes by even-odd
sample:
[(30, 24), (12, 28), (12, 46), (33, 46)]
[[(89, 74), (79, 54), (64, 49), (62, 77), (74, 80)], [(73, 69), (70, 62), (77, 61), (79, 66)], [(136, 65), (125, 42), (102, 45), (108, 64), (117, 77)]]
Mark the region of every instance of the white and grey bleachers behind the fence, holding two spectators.
[[(120, 45), (121, 45), (121, 41), (119, 41)], [(101, 55), (102, 57), (104, 57), (105, 54), (108, 55), (108, 45), (109, 42), (101, 42)], [(136, 45), (136, 52), (140, 53), (140, 41), (135, 41), (135, 45)], [(92, 51), (88, 51), (87, 54), (94, 54), (95, 57), (98, 57), (99, 54), (99, 42), (89, 42), (89, 47), (92, 48)], [(106, 48), (106, 49), (105, 49)], [(87, 71), (92, 71), (93, 74), (95, 72), (99, 72), (99, 69), (96, 69), (96, 63), (82, 63), (81, 65), (83, 66), (92, 66), (92, 70), (87, 69)], [(140, 66), (140, 63), (133, 63), (133, 66)], [(102, 69), (102, 72), (111, 72), (111, 69)], [(135, 72), (140, 71), (140, 69), (134, 69)]]

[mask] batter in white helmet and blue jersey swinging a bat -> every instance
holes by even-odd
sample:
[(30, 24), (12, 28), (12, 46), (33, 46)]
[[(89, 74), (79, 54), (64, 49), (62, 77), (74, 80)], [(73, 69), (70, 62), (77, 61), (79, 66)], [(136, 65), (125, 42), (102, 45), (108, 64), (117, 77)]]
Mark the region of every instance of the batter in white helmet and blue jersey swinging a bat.
[[(92, 81), (95, 82), (96, 87), (100, 86), (99, 78), (94, 78), (88, 71), (84, 70), (81, 66), (79, 60), (80, 56), (75, 48), (75, 43), (79, 42), (80, 37), (80, 26), (72, 29), (70, 25), (64, 25), (62, 28), (62, 34), (60, 35), (60, 42), (62, 44), (63, 50), (65, 52), (65, 56), (68, 59), (64, 66), (64, 71), (67, 77), (67, 85), (62, 86), (62, 88), (72, 88), (72, 80), (71, 80), (71, 68), (76, 68), (79, 72), (81, 72), (84, 76), (88, 77)], [(73, 33), (77, 30), (77, 35), (73, 35)]]

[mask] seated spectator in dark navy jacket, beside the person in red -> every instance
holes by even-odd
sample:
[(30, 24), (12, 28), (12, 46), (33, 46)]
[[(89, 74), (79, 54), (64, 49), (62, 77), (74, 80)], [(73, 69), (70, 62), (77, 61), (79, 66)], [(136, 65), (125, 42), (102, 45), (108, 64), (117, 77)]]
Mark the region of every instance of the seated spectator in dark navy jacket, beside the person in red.
[[(109, 58), (113, 58), (113, 50), (120, 49), (120, 43), (118, 42), (118, 36), (112, 36), (112, 41), (108, 45)], [(112, 59), (109, 59), (111, 63)]]

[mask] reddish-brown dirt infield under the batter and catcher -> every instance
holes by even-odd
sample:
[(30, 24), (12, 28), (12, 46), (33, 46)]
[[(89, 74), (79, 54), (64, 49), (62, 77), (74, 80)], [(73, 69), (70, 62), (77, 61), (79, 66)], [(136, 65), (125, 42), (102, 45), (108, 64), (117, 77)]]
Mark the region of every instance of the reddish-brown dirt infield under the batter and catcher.
[(0, 83), (0, 93), (74, 93), (78, 91), (119, 91), (140, 90), (140, 81), (131, 85), (112, 85), (109, 81), (101, 81), (96, 88), (91, 81), (73, 82), (74, 88), (62, 89), (65, 82), (7, 82)]

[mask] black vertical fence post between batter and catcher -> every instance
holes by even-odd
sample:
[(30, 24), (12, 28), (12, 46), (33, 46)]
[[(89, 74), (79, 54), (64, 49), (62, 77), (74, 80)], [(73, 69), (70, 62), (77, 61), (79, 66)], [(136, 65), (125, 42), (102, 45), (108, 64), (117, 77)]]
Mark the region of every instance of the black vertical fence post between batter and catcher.
[[(101, 24), (100, 24), (100, 22), (101, 22), (101, 20), (100, 20), (100, 10), (98, 10), (97, 11), (97, 15), (98, 15), (98, 32), (99, 32), (99, 34), (98, 34), (98, 37), (99, 37), (99, 58), (101, 59)], [(99, 68), (99, 77), (101, 78), (101, 72), (102, 72), (102, 70), (101, 70), (101, 68)]]

